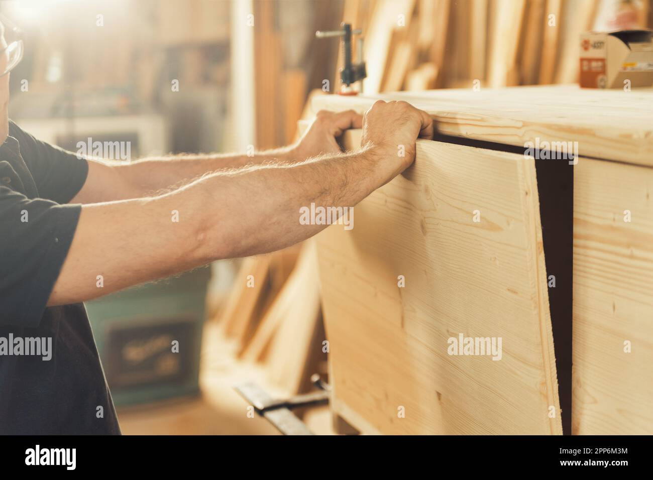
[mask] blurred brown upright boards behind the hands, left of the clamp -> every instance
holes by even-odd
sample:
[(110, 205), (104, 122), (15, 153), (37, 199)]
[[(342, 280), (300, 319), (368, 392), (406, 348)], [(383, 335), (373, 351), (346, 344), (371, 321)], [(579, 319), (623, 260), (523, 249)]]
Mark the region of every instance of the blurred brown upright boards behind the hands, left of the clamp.
[(336, 28), (341, 17), (342, 2), (253, 1), (254, 71), (247, 74), (257, 79), (257, 149), (295, 137), (308, 93), (323, 88), (338, 57), (338, 42), (316, 39), (315, 31)]

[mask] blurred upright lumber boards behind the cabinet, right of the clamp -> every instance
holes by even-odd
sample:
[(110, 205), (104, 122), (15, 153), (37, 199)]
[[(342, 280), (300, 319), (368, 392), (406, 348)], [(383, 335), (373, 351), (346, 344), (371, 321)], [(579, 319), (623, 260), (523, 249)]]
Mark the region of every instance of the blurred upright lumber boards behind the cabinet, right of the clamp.
[[(364, 93), (573, 83), (579, 35), (613, 0), (345, 0), (364, 30)], [(641, 3), (640, 27), (650, 24)], [(342, 67), (342, 58), (338, 68)]]

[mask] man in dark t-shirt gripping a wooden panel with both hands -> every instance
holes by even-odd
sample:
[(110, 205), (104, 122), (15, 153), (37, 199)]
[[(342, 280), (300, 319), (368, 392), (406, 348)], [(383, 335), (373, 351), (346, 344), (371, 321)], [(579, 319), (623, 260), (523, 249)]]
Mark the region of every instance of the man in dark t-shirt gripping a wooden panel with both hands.
[[(0, 355), (3, 434), (119, 434), (81, 302), (301, 242), (324, 228), (300, 224), (302, 206), (354, 206), (409, 167), (415, 140), (433, 133), (425, 112), (379, 101), (362, 118), (319, 112), (298, 144), (253, 157), (108, 165), (8, 120), (16, 46), (4, 36), (1, 46), (0, 339), (52, 338), (50, 360)], [(342, 153), (336, 137), (360, 127), (361, 150)]]

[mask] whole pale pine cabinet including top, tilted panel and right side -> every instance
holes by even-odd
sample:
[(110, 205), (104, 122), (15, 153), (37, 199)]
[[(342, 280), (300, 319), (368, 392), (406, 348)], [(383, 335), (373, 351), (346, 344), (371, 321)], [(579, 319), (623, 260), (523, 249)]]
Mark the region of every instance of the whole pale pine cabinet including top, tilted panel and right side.
[[(426, 110), (443, 135), (355, 208), (353, 230), (318, 236), (336, 417), (368, 433), (560, 434), (573, 342), (571, 432), (653, 434), (652, 91), (325, 95), (312, 108), (364, 112), (379, 98)], [(578, 142), (573, 210), (564, 183), (552, 195), (555, 175), (523, 155), (544, 140)], [(565, 259), (550, 232), (567, 212), (571, 338), (571, 289), (550, 285)], [(502, 360), (449, 355), (461, 333), (502, 337)]]

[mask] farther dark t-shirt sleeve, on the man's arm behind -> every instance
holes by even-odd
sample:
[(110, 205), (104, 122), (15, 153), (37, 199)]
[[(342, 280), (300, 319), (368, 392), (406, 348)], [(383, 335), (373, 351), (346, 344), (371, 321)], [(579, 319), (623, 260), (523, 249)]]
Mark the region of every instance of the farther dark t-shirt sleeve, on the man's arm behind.
[(88, 161), (76, 153), (41, 140), (9, 121), (9, 135), (18, 140), (20, 153), (39, 189), (39, 197), (68, 203), (84, 186)]

